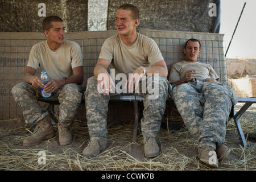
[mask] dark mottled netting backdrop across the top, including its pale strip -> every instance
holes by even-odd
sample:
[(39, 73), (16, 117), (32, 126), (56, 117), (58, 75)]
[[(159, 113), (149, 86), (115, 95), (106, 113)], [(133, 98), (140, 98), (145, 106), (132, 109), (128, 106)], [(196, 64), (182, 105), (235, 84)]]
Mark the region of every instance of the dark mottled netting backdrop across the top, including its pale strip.
[[(142, 30), (218, 32), (220, 23), (220, 0), (0, 0), (0, 32), (41, 32), (45, 17), (38, 15), (38, 5), (42, 2), (46, 16), (60, 16), (68, 32), (115, 30), (115, 12), (124, 3), (139, 8)], [(208, 14), (212, 2), (217, 5), (216, 17)]]

